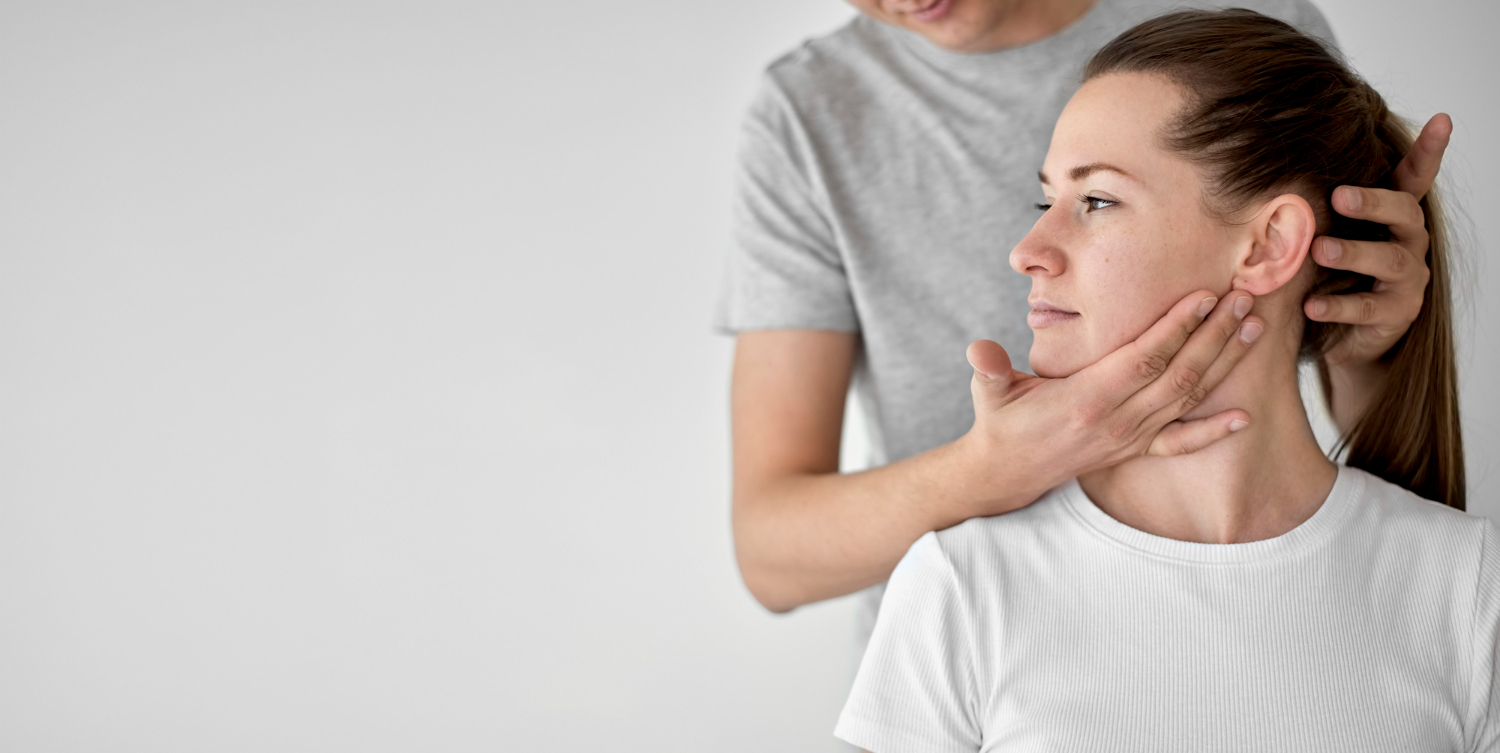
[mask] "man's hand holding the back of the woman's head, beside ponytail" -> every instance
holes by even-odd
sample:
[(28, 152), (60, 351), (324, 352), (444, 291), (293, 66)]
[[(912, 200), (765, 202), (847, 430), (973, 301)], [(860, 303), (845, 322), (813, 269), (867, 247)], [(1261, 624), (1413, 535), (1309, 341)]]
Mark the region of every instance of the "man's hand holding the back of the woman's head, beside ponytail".
[(1326, 236), (1312, 242), (1312, 260), (1318, 264), (1376, 278), (1371, 292), (1312, 296), (1302, 304), (1310, 320), (1353, 326), (1350, 334), (1324, 354), (1334, 382), (1334, 420), (1342, 429), (1353, 426), (1384, 386), (1382, 357), (1422, 310), (1431, 273), (1426, 216), (1418, 201), (1431, 190), (1452, 132), (1454, 122), (1443, 112), (1426, 122), (1412, 152), (1396, 165), (1396, 190), (1356, 186), (1334, 190), (1335, 212), (1389, 226), (1390, 242)]

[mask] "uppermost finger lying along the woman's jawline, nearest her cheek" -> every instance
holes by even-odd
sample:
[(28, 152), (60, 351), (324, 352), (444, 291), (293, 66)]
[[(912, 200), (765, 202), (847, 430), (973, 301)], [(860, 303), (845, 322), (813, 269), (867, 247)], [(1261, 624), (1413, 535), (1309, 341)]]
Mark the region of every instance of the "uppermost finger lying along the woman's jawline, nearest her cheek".
[(1107, 396), (1112, 408), (1120, 405), (1167, 370), (1167, 364), (1198, 330), (1198, 324), (1209, 312), (1230, 310), (1232, 306), (1233, 302), (1220, 302), (1212, 291), (1196, 291), (1173, 304), (1134, 342), (1082, 369), (1074, 378), (1090, 381), (1092, 390)]

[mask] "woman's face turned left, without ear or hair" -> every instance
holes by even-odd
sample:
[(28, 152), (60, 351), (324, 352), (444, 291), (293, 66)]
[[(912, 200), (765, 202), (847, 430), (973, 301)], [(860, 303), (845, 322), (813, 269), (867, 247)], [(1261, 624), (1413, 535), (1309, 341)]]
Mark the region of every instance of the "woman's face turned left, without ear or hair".
[(1102, 358), (1194, 290), (1228, 292), (1236, 228), (1208, 213), (1200, 170), (1160, 146), (1182, 104), (1166, 78), (1108, 74), (1058, 120), (1040, 176), (1050, 208), (1011, 250), (1032, 279), (1038, 376)]

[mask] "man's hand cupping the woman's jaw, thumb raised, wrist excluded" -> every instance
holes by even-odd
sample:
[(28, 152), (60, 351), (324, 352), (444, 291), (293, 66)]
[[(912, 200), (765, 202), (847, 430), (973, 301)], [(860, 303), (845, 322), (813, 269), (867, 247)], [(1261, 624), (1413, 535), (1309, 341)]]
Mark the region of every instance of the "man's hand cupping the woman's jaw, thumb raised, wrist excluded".
[(1248, 316), (1252, 304), (1245, 291), (1224, 300), (1197, 291), (1134, 342), (1056, 380), (1012, 369), (993, 340), (969, 344), (975, 420), (956, 444), (969, 472), (987, 484), (975, 495), (987, 508), (964, 513), (1005, 513), (1084, 471), (1142, 454), (1197, 452), (1245, 428), (1251, 417), (1238, 408), (1178, 418), (1202, 404), (1264, 332), (1260, 318)]

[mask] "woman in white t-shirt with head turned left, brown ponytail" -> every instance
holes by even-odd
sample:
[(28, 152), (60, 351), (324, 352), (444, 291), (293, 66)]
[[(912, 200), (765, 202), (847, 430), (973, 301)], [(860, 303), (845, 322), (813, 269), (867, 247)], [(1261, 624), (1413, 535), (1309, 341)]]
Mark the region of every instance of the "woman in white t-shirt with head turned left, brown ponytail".
[(1240, 336), (1266, 342), (1188, 417), (1254, 422), (926, 534), (836, 735), (874, 753), (1500, 748), (1500, 528), (1462, 512), (1431, 198), (1424, 310), (1347, 466), (1298, 393), (1298, 358), (1347, 336), (1304, 298), (1370, 284), (1316, 266), (1311, 240), (1383, 231), (1332, 213), (1332, 190), (1389, 186), (1408, 147), (1334, 54), (1250, 10), (1170, 14), (1095, 56), (1011, 252), (1032, 278), (1032, 368), (1068, 375), (1188, 291), (1212, 308), (1245, 290), (1258, 318)]

